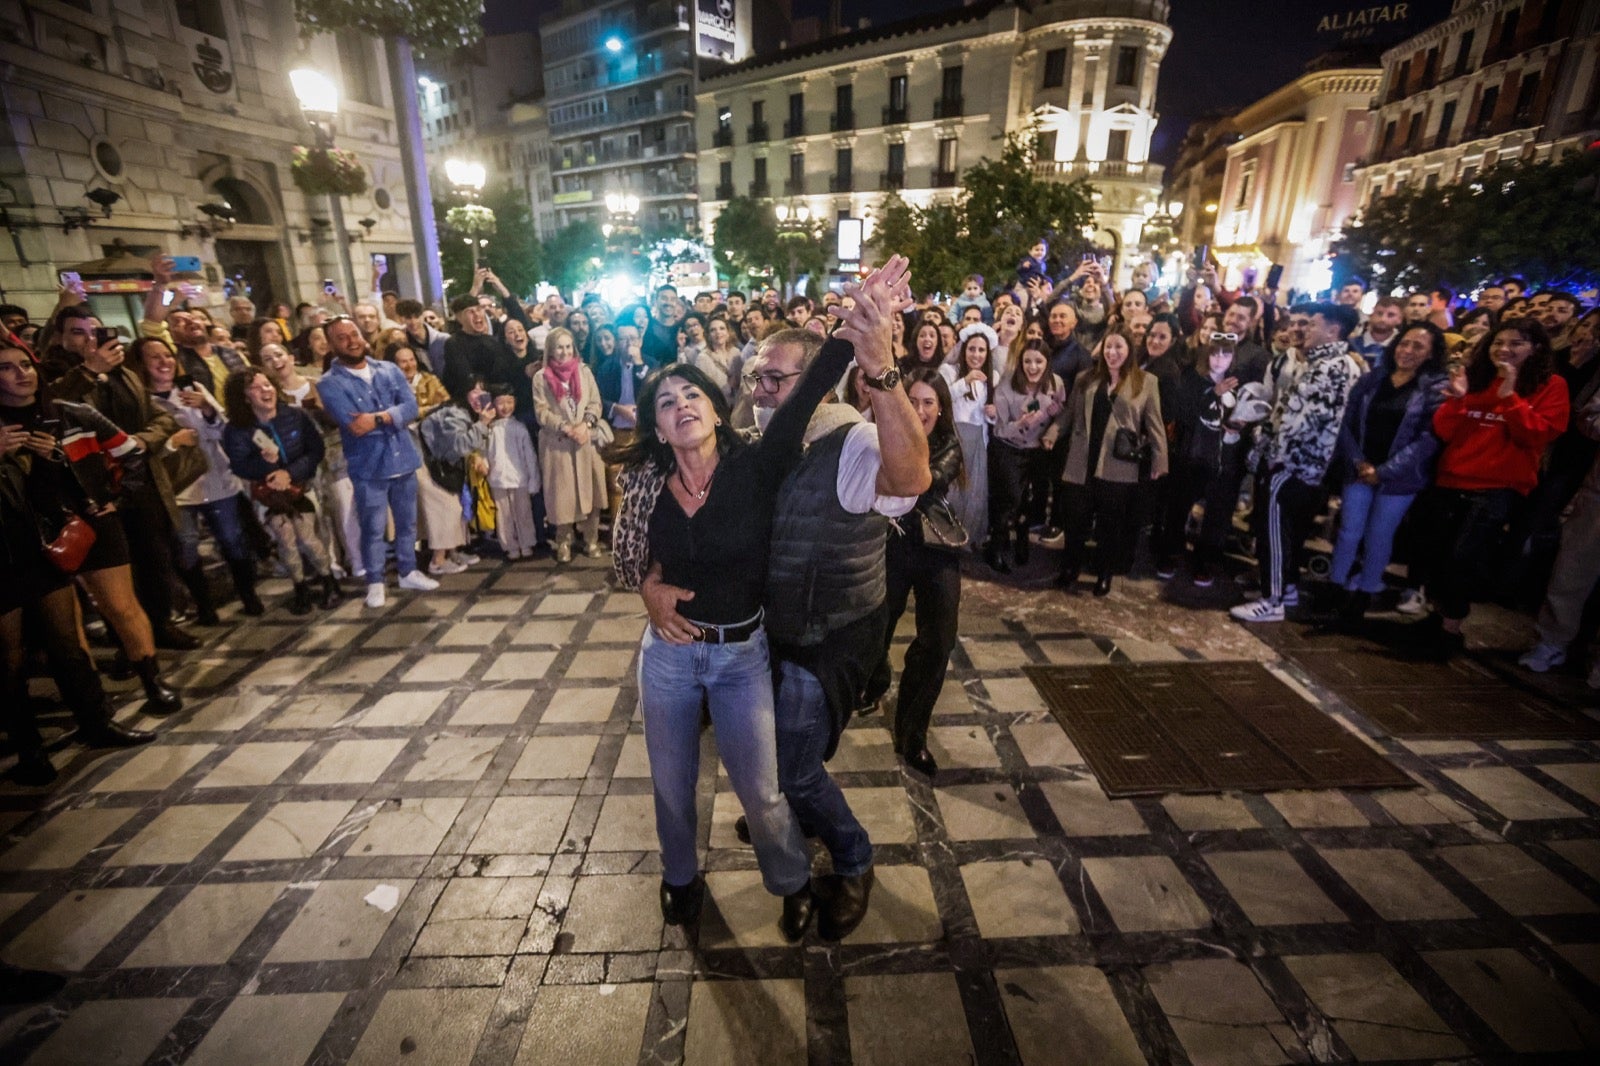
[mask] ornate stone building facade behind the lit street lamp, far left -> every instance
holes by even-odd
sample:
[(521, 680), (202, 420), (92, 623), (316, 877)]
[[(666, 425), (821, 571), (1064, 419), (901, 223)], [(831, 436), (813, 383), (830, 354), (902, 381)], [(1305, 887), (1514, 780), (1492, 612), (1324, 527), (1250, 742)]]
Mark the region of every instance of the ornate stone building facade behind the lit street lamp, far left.
[[(288, 82), (298, 66), (339, 85), (336, 141), (368, 171), (368, 190), (344, 198), (354, 287), (386, 254), (418, 293), (379, 42), (302, 42), (291, 0), (14, 0), (0, 5), (6, 301), (43, 314), (59, 271), (118, 251), (198, 256), (213, 304), (232, 288), (258, 306), (320, 298), (341, 271), (326, 197), (290, 178), (294, 146), (314, 142)], [(109, 213), (91, 190), (117, 195)], [(93, 303), (112, 320), (138, 304)]]

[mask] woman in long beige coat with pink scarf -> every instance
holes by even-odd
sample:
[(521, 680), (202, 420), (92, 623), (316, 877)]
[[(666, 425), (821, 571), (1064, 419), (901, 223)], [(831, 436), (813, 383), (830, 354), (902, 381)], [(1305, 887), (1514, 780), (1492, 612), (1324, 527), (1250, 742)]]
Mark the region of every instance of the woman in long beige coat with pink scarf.
[(578, 359), (566, 330), (544, 339), (544, 368), (533, 378), (533, 413), (539, 423), (539, 477), (544, 511), (555, 525), (555, 562), (573, 560), (573, 533), (582, 527), (584, 555), (598, 559), (600, 511), (606, 504), (600, 426), (600, 386)]

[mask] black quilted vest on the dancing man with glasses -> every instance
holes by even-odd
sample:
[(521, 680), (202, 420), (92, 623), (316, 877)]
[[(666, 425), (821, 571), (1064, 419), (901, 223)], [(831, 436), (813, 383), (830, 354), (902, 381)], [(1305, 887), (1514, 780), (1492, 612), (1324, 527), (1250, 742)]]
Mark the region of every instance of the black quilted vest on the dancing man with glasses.
[(806, 448), (778, 491), (766, 632), (779, 643), (821, 643), (829, 631), (870, 615), (888, 594), (888, 519), (838, 506), (838, 459), (850, 429), (840, 426)]

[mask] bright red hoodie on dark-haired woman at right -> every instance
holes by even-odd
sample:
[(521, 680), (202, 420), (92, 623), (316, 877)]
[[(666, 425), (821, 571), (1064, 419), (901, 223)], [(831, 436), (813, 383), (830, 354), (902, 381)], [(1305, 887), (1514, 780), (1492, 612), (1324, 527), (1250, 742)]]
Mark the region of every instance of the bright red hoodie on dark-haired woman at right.
[(1512, 488), (1523, 496), (1539, 483), (1544, 450), (1566, 431), (1571, 403), (1566, 381), (1550, 375), (1530, 397), (1499, 395), (1499, 381), (1480, 392), (1445, 400), (1434, 411), (1440, 488), (1480, 491)]

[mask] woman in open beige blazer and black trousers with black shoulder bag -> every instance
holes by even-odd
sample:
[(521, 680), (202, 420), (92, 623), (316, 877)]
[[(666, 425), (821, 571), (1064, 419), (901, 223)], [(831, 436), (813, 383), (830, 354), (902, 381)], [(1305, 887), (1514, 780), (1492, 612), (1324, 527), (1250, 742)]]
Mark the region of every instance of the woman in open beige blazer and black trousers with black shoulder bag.
[[(1110, 592), (1112, 573), (1126, 573), (1139, 535), (1139, 477), (1166, 474), (1166, 426), (1155, 378), (1133, 359), (1133, 338), (1109, 330), (1094, 349), (1094, 365), (1078, 375), (1058, 427), (1067, 434), (1066, 493), (1067, 544), (1058, 584), (1072, 589), (1083, 565), (1083, 549), (1094, 530), (1094, 595)], [(1117, 439), (1122, 431), (1123, 448)], [(1128, 448), (1141, 455), (1126, 456)], [(1123, 451), (1126, 458), (1118, 458)]]

